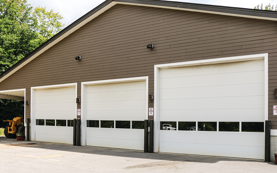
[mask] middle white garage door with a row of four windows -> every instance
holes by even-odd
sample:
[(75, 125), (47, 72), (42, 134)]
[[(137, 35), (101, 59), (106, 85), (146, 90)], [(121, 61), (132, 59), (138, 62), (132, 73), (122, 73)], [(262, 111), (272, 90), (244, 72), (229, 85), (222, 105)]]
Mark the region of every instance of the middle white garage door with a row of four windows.
[(86, 145), (144, 149), (146, 82), (86, 87)]

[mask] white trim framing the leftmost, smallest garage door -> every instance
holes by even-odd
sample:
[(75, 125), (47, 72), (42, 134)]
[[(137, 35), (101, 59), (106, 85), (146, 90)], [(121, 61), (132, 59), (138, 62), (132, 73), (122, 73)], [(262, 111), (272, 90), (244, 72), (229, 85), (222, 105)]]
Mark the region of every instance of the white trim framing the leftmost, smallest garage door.
[[(62, 88), (62, 87), (75, 87), (75, 95), (77, 98), (77, 83), (71, 84), (58, 84), (58, 85), (47, 85), (40, 87), (31, 87), (31, 122), (30, 122), (30, 140), (35, 140), (35, 90), (36, 89), (50, 89), (50, 88)], [(77, 118), (77, 104), (75, 106), (76, 118)]]

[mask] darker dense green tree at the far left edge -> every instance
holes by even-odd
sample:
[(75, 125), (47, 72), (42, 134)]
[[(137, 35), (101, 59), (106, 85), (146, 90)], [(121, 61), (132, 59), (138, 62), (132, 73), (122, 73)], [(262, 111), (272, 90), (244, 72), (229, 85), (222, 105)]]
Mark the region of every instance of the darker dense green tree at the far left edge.
[(31, 9), (26, 0), (0, 0), (0, 73), (34, 49)]

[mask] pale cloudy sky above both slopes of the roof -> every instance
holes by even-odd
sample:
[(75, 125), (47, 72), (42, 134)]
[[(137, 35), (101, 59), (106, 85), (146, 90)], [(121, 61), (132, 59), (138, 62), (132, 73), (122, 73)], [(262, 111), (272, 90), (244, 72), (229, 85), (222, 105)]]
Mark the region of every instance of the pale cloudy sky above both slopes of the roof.
[[(94, 9), (96, 6), (104, 2), (105, 0), (27, 0), (28, 4), (31, 4), (34, 8), (37, 6), (46, 7), (47, 11), (53, 9), (55, 13), (59, 12), (64, 18), (62, 23), (65, 27), (76, 21), (78, 18)], [(241, 7), (254, 9), (258, 4), (263, 3), (264, 6), (276, 5), (277, 0), (168, 0), (179, 1), (196, 4), (209, 4), (219, 6)]]

